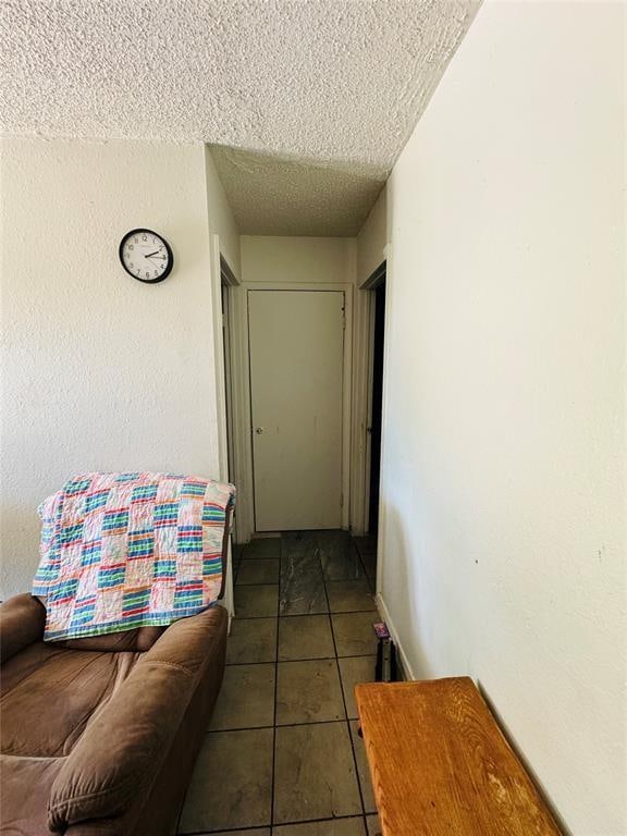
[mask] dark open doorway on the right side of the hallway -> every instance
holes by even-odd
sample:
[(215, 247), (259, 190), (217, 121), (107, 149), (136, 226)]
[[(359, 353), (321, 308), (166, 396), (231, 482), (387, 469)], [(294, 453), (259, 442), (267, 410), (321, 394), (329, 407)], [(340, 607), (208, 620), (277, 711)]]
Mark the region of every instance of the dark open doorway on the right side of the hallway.
[(385, 329), (385, 272), (374, 290), (374, 333), (372, 344), (372, 416), (370, 419), (370, 511), (368, 532), (379, 526), (379, 487), (381, 482), (381, 413), (383, 407), (383, 337)]

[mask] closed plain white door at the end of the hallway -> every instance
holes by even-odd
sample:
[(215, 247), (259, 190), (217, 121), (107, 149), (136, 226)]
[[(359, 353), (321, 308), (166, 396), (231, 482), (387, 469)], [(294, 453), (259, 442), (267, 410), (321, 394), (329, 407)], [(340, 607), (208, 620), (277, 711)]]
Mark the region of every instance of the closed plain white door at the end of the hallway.
[(249, 291), (257, 531), (341, 528), (344, 293)]

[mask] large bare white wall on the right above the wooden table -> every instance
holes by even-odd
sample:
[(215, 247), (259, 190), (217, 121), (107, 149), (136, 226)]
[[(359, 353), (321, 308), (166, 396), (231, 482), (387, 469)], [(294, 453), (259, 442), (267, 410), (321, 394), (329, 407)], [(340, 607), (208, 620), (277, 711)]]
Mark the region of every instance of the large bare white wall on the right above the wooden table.
[(389, 183), (381, 591), (627, 833), (625, 8), (487, 2)]

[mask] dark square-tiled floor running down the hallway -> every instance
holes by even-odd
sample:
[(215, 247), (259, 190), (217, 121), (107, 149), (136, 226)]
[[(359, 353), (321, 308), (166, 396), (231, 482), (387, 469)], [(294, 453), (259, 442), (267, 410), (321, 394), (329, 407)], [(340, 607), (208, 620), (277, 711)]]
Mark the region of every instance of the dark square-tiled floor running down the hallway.
[(179, 834), (379, 833), (353, 696), (374, 678), (374, 549), (312, 531), (235, 550), (224, 684)]

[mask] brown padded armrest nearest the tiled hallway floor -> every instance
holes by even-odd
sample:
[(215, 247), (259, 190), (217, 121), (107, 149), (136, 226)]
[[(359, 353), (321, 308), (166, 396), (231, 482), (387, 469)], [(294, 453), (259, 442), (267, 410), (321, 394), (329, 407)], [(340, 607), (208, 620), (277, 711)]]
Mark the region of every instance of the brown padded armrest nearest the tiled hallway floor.
[(152, 784), (204, 673), (226, 613), (172, 624), (85, 729), (52, 784), (48, 825), (65, 831), (121, 815)]

